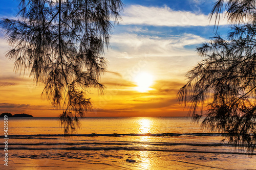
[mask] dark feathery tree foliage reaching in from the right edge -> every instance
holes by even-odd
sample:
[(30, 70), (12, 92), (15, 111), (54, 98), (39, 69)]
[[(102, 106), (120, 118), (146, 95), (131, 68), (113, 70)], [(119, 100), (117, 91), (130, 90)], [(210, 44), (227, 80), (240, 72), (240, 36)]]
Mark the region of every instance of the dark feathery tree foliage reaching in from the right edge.
[[(210, 17), (226, 12), (231, 28), (197, 48), (204, 59), (187, 72), (178, 100), (202, 127), (226, 133), (229, 143), (253, 154), (256, 147), (256, 3), (215, 3)], [(206, 111), (204, 111), (204, 109)]]

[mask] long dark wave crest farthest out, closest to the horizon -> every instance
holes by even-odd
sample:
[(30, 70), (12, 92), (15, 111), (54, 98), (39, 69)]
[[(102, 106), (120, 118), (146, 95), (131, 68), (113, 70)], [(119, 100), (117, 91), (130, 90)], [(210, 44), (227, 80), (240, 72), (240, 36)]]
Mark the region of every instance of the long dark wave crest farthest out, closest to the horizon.
[[(34, 135), (8, 135), (9, 138), (15, 137), (58, 137), (58, 136), (84, 136), (84, 137), (94, 137), (94, 136), (112, 136), (112, 137), (122, 137), (122, 136), (225, 136), (225, 133), (112, 133), (112, 134), (34, 134)], [(2, 136), (4, 138), (4, 136)]]

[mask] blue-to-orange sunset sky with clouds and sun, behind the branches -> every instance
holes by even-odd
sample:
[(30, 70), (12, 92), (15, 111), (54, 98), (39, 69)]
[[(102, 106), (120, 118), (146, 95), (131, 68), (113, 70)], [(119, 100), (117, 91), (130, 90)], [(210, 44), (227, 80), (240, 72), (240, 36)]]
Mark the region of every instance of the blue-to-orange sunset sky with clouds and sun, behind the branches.
[[(203, 58), (196, 47), (214, 33), (228, 30), (225, 18), (218, 30), (208, 14), (216, 0), (125, 0), (122, 20), (115, 25), (105, 49), (108, 70), (101, 77), (105, 94), (90, 89), (94, 109), (86, 116), (187, 116), (177, 102), (185, 74)], [(0, 17), (14, 17), (17, 1), (2, 0)], [(0, 113), (27, 113), (34, 117), (57, 117), (49, 101), (42, 100), (44, 84), (13, 71), (14, 61), (0, 34)]]

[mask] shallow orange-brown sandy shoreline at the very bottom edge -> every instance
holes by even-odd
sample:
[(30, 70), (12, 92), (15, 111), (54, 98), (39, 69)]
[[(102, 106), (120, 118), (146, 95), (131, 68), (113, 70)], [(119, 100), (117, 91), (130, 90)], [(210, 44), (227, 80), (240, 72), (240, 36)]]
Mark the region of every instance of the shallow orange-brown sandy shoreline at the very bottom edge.
[[(234, 155), (230, 155), (234, 156)], [(240, 157), (240, 155), (237, 155)], [(77, 159), (72, 160), (63, 160), (63, 159), (55, 159), (55, 158), (40, 158), (40, 159), (30, 159), (30, 158), (20, 158), (9, 160), (8, 167), (5, 169), (244, 169), (246, 165), (246, 169), (255, 169), (253, 164), (250, 164), (245, 160), (245, 162), (249, 164), (237, 164), (235, 162), (229, 162), (228, 164), (234, 163), (233, 167), (227, 168), (225, 167), (225, 162), (221, 158), (221, 155), (217, 156), (218, 160), (214, 161), (205, 161), (201, 162), (189, 162), (186, 159), (181, 160), (163, 160), (159, 157), (159, 164), (152, 167), (143, 167), (143, 163), (141, 162), (126, 162), (123, 158), (120, 162), (109, 162), (105, 163), (104, 161), (78, 161)], [(243, 157), (243, 156), (242, 156)], [(241, 157), (241, 158), (242, 158)], [(246, 159), (246, 157), (244, 157)], [(162, 160), (161, 160), (162, 159)], [(161, 160), (161, 161), (160, 161)], [(2, 165), (4, 166), (4, 165)]]

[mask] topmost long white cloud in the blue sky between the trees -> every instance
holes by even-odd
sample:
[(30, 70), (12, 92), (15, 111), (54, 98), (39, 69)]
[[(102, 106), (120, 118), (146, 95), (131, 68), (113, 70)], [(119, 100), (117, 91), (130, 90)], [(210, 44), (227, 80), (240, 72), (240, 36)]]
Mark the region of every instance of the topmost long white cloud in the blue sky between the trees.
[[(214, 25), (209, 22), (208, 15), (195, 14), (189, 11), (174, 11), (169, 7), (145, 7), (131, 5), (124, 9), (121, 14), (123, 22), (121, 25), (149, 25), (149, 26), (208, 26)], [(223, 19), (219, 25), (226, 25)]]

